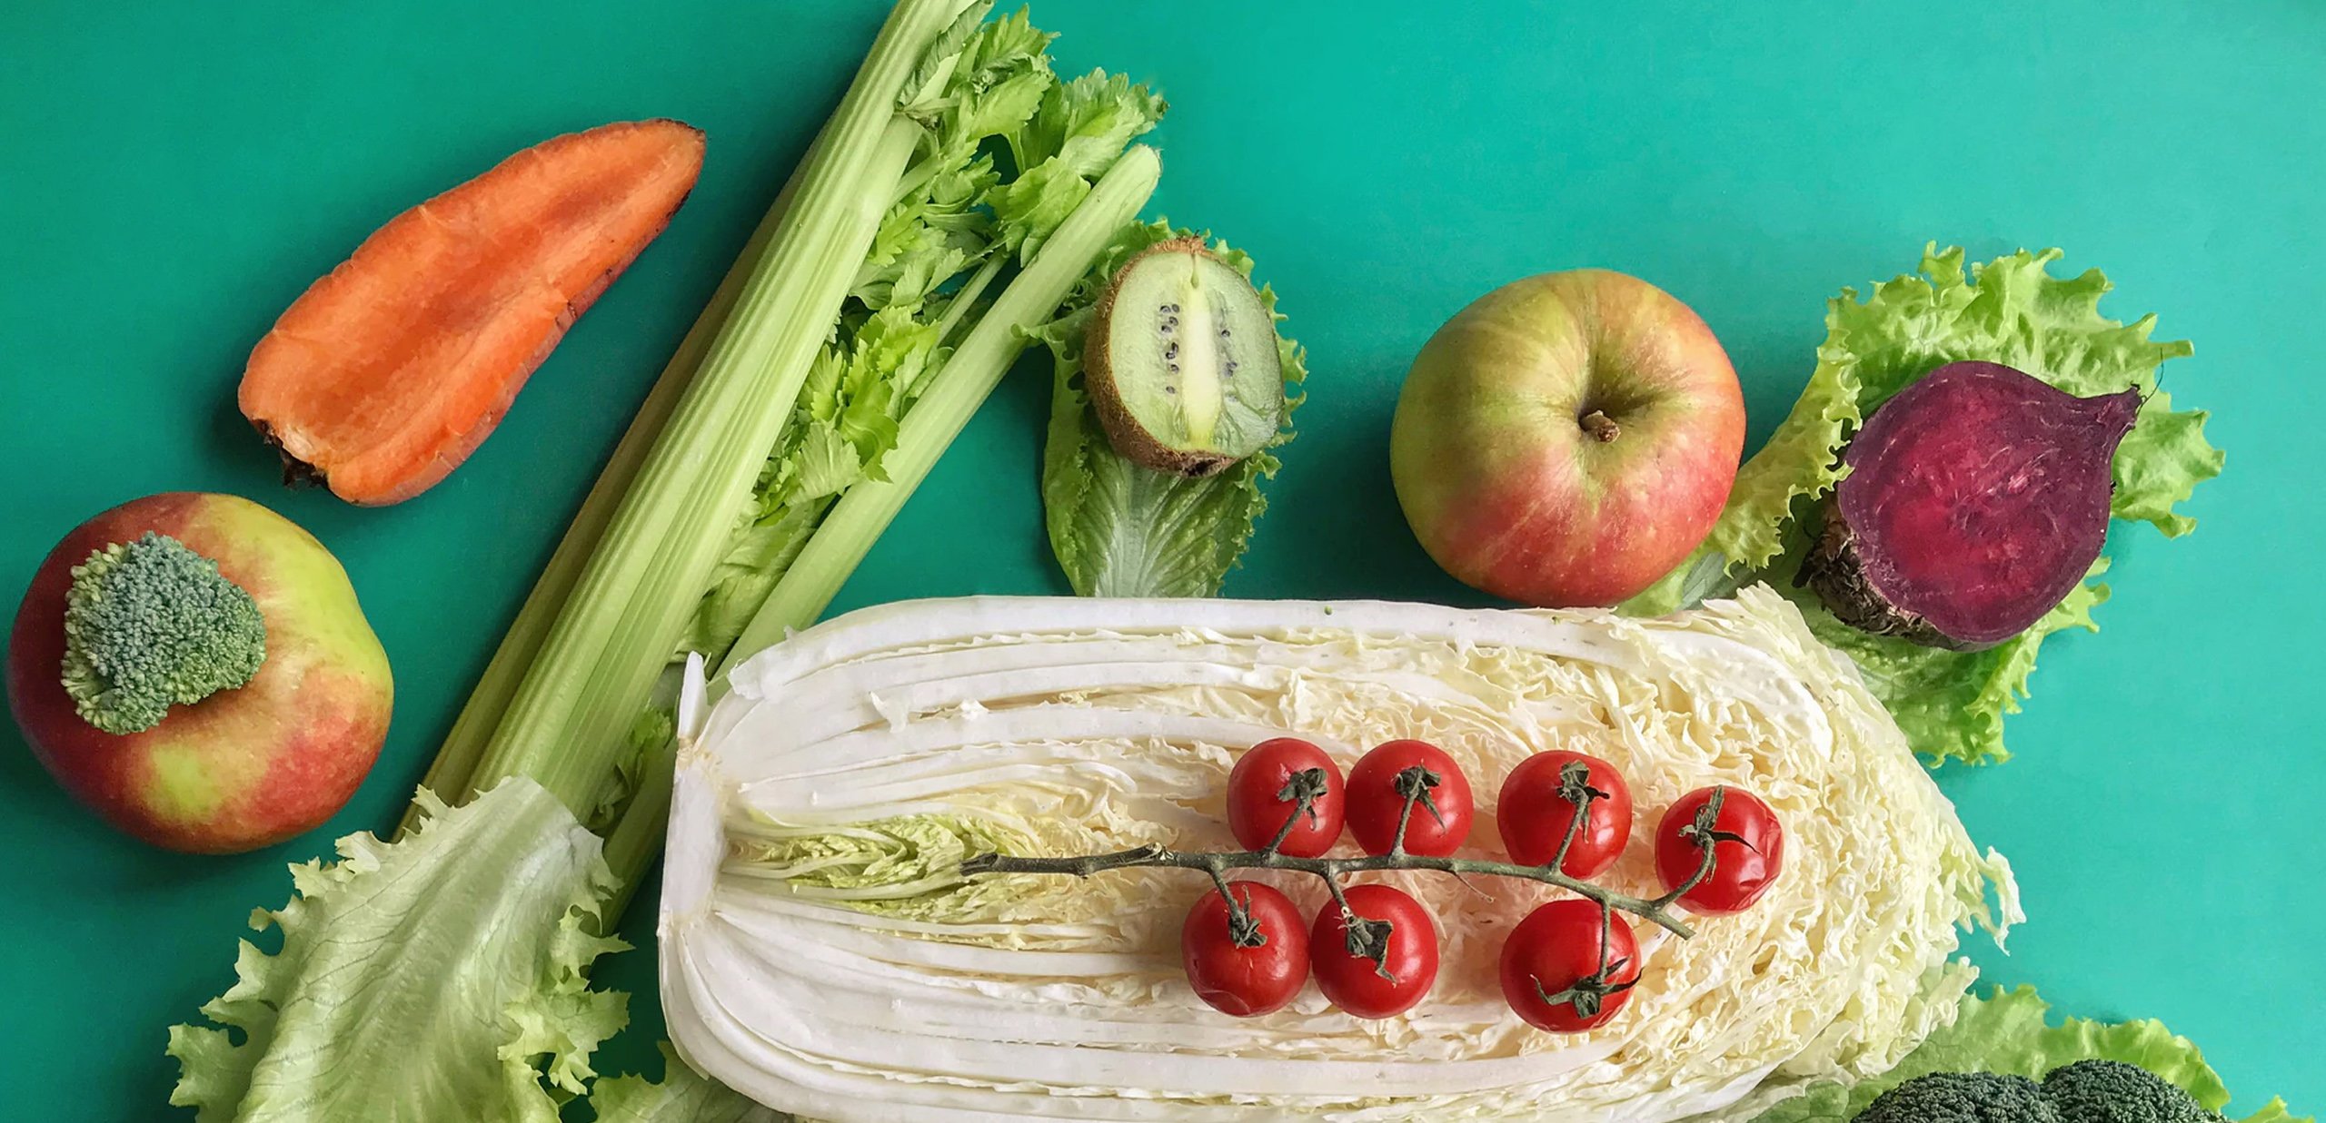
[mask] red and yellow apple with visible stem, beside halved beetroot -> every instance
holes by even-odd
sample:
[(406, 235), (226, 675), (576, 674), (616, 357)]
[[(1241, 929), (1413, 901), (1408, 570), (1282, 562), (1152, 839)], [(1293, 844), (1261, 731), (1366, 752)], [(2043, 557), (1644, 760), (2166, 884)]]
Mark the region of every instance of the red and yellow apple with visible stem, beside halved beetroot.
[(1661, 579), (1728, 502), (1744, 395), (1712, 328), (1621, 272), (1512, 281), (1414, 358), (1389, 472), (1449, 574), (1542, 607)]

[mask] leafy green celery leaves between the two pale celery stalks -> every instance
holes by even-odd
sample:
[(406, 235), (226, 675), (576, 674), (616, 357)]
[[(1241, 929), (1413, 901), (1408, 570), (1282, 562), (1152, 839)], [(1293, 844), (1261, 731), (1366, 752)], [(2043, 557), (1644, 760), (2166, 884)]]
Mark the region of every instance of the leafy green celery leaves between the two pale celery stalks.
[[(1023, 9), (975, 26), (944, 86), (905, 107), (926, 126), (905, 198), (872, 237), (682, 656), (700, 651), (719, 665), (833, 502), (858, 481), (889, 479), (882, 460), (898, 423), (975, 323), (984, 293), (1009, 263), (1030, 260), (1123, 146), (1163, 116), (1163, 98), (1121, 74), (1058, 81), (1049, 42)], [(1007, 146), (1014, 174), (996, 167), (993, 146)]]

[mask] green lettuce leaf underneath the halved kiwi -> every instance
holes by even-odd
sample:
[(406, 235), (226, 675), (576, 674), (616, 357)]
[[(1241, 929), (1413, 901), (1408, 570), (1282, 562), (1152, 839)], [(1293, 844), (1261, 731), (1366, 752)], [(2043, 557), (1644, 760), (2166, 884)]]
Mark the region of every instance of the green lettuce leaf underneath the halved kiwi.
[[(1054, 358), (1049, 439), (1042, 449), (1042, 516), (1058, 567), (1065, 570), (1075, 593), (1086, 598), (1219, 595), (1228, 570), (1251, 544), (1261, 512), (1268, 509), (1261, 481), (1282, 467), (1272, 449), (1293, 439), (1291, 412), (1300, 398), (1289, 393), (1284, 428), (1268, 449), (1216, 477), (1151, 472), (1126, 460), (1107, 442), (1098, 412), (1082, 388), (1082, 339), (1091, 326), (1091, 307), (1130, 256), (1172, 237), (1193, 237), (1193, 230), (1175, 230), (1170, 223), (1126, 228), (1065, 312), (1035, 330)], [(1210, 246), (1251, 277), (1249, 253), (1226, 242)], [(1277, 321), (1284, 319), (1275, 312), (1272, 288), (1261, 288), (1261, 302)], [(1277, 332), (1277, 356), (1289, 388), (1298, 386), (1307, 377), (1307, 351)]]

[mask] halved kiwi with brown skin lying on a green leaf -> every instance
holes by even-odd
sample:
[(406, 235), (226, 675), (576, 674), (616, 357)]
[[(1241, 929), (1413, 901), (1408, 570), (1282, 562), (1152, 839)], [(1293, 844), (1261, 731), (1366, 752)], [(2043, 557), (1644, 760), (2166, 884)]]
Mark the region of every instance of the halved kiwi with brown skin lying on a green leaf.
[(1114, 451), (1156, 472), (1219, 472), (1261, 451), (1284, 419), (1275, 316), (1200, 237), (1123, 263), (1082, 356)]

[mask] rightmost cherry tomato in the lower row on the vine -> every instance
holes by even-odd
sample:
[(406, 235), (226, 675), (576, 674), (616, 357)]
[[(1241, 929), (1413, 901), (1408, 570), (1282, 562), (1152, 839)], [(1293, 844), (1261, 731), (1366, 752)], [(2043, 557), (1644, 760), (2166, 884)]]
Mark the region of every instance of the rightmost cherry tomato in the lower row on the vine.
[(1631, 1002), (1631, 983), (1640, 981), (1640, 942), (1631, 925), (1617, 914), (1605, 932), (1603, 949), (1593, 900), (1554, 900), (1526, 914), (1503, 942), (1503, 1000), (1537, 1030), (1605, 1025)]

